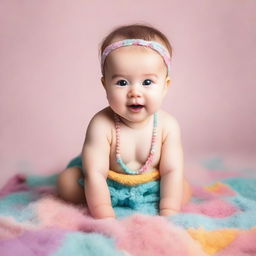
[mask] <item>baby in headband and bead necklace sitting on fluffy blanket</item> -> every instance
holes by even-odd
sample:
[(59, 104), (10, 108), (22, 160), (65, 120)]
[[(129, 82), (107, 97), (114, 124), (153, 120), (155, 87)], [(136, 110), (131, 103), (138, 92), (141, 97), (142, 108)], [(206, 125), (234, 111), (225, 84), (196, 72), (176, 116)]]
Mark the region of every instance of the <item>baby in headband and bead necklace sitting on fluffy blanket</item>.
[(145, 25), (122, 26), (101, 46), (101, 82), (109, 106), (91, 119), (81, 156), (58, 179), (61, 198), (85, 203), (94, 218), (113, 218), (107, 181), (141, 186), (160, 180), (159, 214), (190, 198), (176, 119), (161, 110), (170, 85), (171, 45)]

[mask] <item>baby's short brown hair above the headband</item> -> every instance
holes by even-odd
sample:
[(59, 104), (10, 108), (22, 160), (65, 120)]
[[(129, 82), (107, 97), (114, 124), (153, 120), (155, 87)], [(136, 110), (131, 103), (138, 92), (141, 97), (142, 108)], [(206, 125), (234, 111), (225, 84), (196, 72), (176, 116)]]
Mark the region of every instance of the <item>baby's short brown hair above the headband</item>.
[(100, 47), (100, 55), (102, 55), (104, 49), (108, 45), (113, 43), (113, 39), (116, 37), (122, 37), (123, 39), (143, 39), (146, 41), (154, 41), (158, 39), (164, 43), (164, 46), (170, 53), (170, 57), (172, 56), (172, 46), (167, 37), (158, 29), (143, 24), (126, 25), (114, 29), (102, 41)]

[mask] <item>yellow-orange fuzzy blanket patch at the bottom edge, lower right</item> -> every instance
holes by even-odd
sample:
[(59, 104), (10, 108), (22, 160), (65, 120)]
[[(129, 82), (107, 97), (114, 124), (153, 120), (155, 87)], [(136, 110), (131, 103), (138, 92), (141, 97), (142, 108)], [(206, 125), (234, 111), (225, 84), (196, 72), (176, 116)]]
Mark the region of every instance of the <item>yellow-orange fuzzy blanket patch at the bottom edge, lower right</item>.
[(188, 232), (193, 239), (201, 244), (206, 253), (213, 255), (233, 242), (239, 231), (237, 229), (206, 231), (201, 228), (189, 229)]

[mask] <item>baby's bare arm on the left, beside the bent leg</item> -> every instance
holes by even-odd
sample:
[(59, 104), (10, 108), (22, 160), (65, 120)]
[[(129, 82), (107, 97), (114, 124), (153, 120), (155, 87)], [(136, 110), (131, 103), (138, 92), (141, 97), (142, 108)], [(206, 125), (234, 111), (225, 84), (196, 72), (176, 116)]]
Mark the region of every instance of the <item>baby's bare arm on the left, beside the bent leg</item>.
[(115, 217), (106, 183), (109, 171), (109, 124), (102, 113), (90, 122), (82, 152), (85, 173), (85, 196), (90, 213), (95, 218)]

